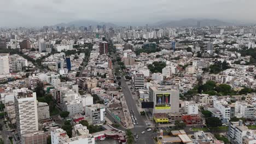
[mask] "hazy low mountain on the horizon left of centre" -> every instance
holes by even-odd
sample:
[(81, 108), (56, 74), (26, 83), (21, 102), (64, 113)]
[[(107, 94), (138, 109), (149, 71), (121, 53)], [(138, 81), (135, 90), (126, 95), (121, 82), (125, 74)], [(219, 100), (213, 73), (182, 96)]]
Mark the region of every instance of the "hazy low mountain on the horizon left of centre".
[(97, 21), (90, 21), (90, 20), (77, 20), (77, 21), (72, 21), (68, 23), (59, 23), (54, 26), (75, 26), (75, 27), (82, 27), (82, 26), (97, 26), (97, 25), (106, 25), (107, 27), (116, 27), (113, 23), (110, 22), (97, 22)]

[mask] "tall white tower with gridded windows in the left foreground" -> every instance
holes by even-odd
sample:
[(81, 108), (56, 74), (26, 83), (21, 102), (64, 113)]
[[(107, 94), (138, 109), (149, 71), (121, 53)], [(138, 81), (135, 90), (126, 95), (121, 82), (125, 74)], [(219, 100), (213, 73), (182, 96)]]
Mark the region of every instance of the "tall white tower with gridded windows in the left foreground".
[(21, 137), (38, 131), (37, 94), (28, 88), (15, 89), (16, 126)]

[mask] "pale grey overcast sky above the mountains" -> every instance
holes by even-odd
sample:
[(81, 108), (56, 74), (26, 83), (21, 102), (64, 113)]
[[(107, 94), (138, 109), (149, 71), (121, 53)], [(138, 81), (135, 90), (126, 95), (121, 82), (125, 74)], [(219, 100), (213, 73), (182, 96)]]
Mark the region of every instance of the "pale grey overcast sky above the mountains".
[(116, 24), (187, 18), (256, 22), (256, 0), (0, 0), (0, 26), (45, 26), (73, 20)]

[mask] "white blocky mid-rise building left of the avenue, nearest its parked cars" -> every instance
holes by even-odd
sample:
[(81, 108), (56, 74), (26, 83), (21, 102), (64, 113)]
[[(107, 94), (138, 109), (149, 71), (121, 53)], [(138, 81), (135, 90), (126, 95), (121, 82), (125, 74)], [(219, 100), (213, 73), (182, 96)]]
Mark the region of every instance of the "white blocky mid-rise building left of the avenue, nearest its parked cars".
[(85, 113), (90, 116), (92, 124), (103, 124), (105, 122), (105, 111), (105, 106), (102, 104), (94, 104), (85, 108)]

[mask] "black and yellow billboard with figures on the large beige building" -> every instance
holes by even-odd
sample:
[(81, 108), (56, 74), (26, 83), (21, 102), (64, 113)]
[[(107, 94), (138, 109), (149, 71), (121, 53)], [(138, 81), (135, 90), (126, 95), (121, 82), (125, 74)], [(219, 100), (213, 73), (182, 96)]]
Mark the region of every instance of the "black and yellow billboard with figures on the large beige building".
[(155, 109), (171, 109), (170, 93), (156, 94), (155, 98), (156, 98)]

